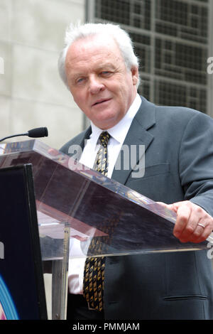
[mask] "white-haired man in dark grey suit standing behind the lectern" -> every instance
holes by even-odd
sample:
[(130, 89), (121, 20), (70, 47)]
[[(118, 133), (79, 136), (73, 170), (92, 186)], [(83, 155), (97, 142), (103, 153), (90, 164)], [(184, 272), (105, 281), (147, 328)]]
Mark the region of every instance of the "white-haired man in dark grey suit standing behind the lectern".
[[(103, 148), (107, 165), (102, 172), (175, 211), (173, 234), (180, 242), (207, 239), (213, 230), (212, 119), (184, 107), (155, 106), (140, 97), (138, 59), (129, 35), (119, 26), (70, 26), (58, 65), (72, 97), (91, 121), (61, 151), (68, 154), (70, 146), (80, 145), (80, 162), (94, 168)], [(143, 177), (114, 168), (123, 145), (142, 144)], [(92, 296), (84, 278), (96, 264), (91, 268), (89, 261), (70, 266), (68, 319), (213, 318), (212, 266), (205, 250), (106, 257), (104, 286), (99, 282), (97, 291), (95, 275)]]

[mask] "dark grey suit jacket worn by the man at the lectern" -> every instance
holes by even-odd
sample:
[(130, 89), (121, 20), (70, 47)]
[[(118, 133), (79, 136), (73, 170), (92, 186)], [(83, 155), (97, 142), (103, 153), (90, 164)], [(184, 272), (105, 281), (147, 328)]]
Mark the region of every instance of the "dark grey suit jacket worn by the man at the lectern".
[[(185, 107), (158, 107), (141, 97), (124, 144), (146, 146), (143, 178), (112, 178), (155, 201), (191, 200), (213, 215), (213, 120)], [(69, 141), (84, 145), (91, 129)], [(141, 222), (143, 217), (141, 217)], [(106, 319), (212, 319), (213, 275), (207, 251), (107, 257)]]

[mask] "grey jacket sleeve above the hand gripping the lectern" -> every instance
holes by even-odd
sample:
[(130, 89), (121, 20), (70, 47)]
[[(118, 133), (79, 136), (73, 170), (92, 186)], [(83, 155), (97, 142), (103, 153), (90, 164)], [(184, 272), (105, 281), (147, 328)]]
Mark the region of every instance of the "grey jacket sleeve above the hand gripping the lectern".
[(196, 113), (185, 127), (179, 154), (185, 200), (213, 216), (213, 119)]

